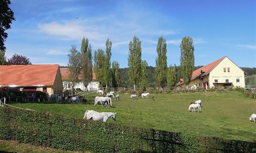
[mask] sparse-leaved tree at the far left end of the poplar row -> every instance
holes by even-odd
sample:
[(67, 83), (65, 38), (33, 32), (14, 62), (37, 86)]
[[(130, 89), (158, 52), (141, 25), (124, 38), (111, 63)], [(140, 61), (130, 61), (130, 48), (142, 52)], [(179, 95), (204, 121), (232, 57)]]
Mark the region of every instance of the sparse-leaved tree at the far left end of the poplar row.
[(69, 80), (72, 83), (72, 96), (74, 95), (74, 87), (79, 82), (78, 76), (81, 74), (81, 53), (77, 51), (76, 46), (72, 45), (70, 49), (69, 57)]

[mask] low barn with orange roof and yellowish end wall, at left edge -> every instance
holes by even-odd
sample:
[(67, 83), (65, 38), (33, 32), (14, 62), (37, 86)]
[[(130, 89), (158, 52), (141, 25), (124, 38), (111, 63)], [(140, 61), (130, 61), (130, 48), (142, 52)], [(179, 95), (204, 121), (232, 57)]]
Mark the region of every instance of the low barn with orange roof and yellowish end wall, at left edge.
[(42, 91), (49, 95), (62, 93), (59, 65), (1, 65), (1, 90)]

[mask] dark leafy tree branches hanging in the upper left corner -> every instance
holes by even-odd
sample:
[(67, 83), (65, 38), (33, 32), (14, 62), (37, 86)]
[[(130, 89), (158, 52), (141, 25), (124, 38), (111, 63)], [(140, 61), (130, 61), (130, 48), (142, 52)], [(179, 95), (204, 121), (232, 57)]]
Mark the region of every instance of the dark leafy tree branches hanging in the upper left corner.
[(5, 52), (5, 40), (8, 37), (8, 34), (5, 31), (11, 29), (11, 23), (15, 20), (14, 13), (9, 8), (10, 4), (10, 0), (0, 1), (0, 52)]

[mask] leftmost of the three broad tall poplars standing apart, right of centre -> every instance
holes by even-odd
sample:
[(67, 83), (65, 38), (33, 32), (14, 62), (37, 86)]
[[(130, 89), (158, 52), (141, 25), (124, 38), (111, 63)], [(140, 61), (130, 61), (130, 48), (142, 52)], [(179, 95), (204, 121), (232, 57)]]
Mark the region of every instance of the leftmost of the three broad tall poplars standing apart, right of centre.
[(141, 41), (136, 36), (134, 36), (133, 41), (129, 43), (128, 67), (129, 80), (133, 83), (135, 90), (136, 84), (139, 82), (141, 70)]

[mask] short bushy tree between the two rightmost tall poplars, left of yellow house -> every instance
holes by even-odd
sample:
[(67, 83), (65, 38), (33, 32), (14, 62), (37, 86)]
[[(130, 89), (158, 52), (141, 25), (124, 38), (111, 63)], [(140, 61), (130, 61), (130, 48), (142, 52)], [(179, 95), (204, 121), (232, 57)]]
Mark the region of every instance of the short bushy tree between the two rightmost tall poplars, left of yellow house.
[(168, 68), (167, 86), (175, 87), (177, 83), (178, 83), (178, 68), (175, 64), (174, 66), (170, 65)]

